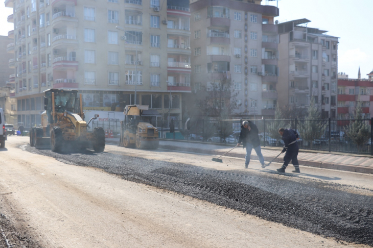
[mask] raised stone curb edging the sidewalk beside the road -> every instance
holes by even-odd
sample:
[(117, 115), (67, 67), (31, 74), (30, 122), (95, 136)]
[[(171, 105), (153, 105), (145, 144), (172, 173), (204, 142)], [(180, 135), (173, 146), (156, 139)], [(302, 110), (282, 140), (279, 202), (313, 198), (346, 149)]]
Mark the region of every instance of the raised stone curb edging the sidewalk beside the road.
[[(107, 142), (108, 144), (118, 145), (119, 142)], [(179, 147), (173, 145), (159, 145), (159, 148), (178, 151), (178, 152), (188, 152), (188, 153), (198, 153), (198, 154), (208, 154), (208, 155), (223, 155), (225, 152), (217, 151), (217, 150), (206, 150), (201, 148), (192, 148), (192, 147)], [(226, 157), (233, 157), (233, 158), (245, 158), (245, 154), (242, 153), (232, 153), (229, 152)], [(263, 156), (264, 161), (269, 162), (274, 159), (274, 156)], [(257, 155), (251, 155), (252, 160), (258, 160)], [(282, 163), (283, 158), (276, 158), (273, 162)], [(340, 164), (340, 163), (333, 163), (333, 162), (320, 162), (320, 161), (310, 161), (310, 160), (302, 160), (298, 159), (299, 165), (302, 166), (309, 166), (309, 167), (316, 167), (316, 168), (323, 168), (323, 169), (336, 169), (336, 170), (344, 170), (344, 171), (351, 171), (351, 172), (359, 172), (359, 173), (368, 173), (373, 174), (373, 167), (366, 167), (366, 166), (358, 166), (358, 165), (351, 165), (351, 164)]]

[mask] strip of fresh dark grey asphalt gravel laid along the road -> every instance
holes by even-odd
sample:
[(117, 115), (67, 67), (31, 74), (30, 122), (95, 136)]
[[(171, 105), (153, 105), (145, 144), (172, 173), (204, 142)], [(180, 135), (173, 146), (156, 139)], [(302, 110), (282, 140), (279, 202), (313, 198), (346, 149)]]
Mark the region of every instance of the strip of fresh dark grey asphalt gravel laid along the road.
[[(221, 171), (90, 150), (27, 151), (79, 166), (91, 166), (125, 180), (157, 186), (236, 209), (285, 226), (337, 240), (373, 246), (373, 197), (319, 180), (288, 180), (250, 170)], [(296, 237), (294, 237), (296, 238)]]

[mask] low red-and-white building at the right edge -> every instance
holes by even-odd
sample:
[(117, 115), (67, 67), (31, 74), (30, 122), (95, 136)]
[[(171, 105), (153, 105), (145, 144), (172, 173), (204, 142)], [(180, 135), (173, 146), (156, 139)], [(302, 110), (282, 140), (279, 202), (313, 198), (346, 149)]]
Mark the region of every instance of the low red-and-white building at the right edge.
[[(360, 72), (360, 68), (359, 68)], [(368, 79), (348, 79), (348, 75), (338, 73), (338, 119), (354, 118), (355, 108), (360, 102), (363, 118), (373, 117), (373, 75)]]

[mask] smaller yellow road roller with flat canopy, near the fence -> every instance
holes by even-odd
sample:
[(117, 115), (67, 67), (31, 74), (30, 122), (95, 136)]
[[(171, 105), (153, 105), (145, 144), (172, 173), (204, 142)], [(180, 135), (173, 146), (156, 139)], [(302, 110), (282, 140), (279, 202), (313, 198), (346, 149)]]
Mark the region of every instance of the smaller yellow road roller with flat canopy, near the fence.
[(121, 121), (120, 145), (136, 146), (138, 149), (157, 149), (159, 146), (158, 129), (141, 116), (148, 105), (127, 105), (124, 109), (125, 119)]

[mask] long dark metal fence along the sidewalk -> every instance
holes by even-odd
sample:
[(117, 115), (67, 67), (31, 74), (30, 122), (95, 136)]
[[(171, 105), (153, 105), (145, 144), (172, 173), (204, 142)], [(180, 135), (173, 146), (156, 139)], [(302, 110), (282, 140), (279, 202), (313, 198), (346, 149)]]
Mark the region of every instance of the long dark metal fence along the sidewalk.
[[(234, 120), (158, 120), (150, 121), (158, 128), (159, 137), (175, 140), (237, 144), (242, 119)], [(299, 133), (299, 148), (327, 152), (373, 155), (373, 118), (371, 119), (259, 119), (251, 120), (259, 130), (262, 146), (282, 147), (279, 128)], [(94, 122), (93, 127), (120, 133), (120, 123)]]

